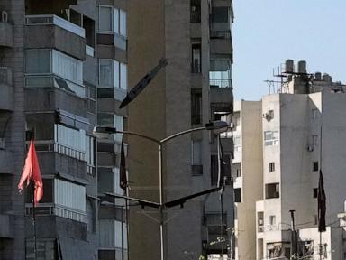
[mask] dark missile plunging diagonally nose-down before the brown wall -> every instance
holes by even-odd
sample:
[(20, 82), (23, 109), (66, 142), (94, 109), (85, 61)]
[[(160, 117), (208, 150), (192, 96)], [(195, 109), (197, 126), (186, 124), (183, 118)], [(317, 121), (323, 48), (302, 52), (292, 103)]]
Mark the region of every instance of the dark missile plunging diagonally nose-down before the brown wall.
[(155, 78), (156, 74), (158, 74), (159, 70), (166, 67), (168, 64), (167, 59), (162, 58), (159, 60), (159, 64), (152, 69), (147, 75), (144, 76), (143, 79), (140, 80), (140, 82), (137, 83), (136, 86), (134, 86), (130, 92), (126, 95), (125, 98), (123, 98), (122, 104), (120, 104), (119, 108), (123, 108), (127, 106), (134, 98), (138, 96), (138, 94), (141, 93), (141, 91), (147, 87), (147, 85), (150, 83), (152, 79)]

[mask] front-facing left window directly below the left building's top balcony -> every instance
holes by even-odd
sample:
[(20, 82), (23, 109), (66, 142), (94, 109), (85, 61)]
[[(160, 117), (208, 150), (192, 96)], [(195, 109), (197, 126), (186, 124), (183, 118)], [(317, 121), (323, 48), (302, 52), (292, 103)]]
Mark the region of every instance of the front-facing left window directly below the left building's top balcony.
[(50, 50), (26, 51), (25, 72), (31, 74), (50, 73)]

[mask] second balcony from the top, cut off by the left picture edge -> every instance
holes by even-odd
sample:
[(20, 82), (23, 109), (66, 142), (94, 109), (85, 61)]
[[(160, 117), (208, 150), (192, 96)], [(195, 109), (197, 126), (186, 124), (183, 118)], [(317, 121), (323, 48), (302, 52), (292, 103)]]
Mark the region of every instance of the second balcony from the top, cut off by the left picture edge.
[(14, 110), (12, 71), (7, 67), (0, 67), (0, 110)]

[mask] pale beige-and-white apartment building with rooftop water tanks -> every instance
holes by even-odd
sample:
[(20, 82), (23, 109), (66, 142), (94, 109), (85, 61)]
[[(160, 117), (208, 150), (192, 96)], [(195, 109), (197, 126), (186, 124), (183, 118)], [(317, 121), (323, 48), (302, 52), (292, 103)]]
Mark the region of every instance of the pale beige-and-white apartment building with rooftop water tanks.
[[(236, 259), (291, 259), (295, 240), (289, 210), (295, 210), (296, 254), (303, 257), (298, 259), (344, 259), (345, 231), (337, 215), (346, 198), (345, 86), (332, 82), (328, 74), (307, 73), (304, 60), (296, 70), (293, 60), (287, 60), (283, 71), (278, 93), (258, 102), (236, 103), (234, 115), (241, 118), (234, 131), (232, 164), (241, 167), (234, 182)], [(250, 109), (253, 118), (248, 116)], [(327, 198), (322, 243), (317, 229), (320, 170)]]

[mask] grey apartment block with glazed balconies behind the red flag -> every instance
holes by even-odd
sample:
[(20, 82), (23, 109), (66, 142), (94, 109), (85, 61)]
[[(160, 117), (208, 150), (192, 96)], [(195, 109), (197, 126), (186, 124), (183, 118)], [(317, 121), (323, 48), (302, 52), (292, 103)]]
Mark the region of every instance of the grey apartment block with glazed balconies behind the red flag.
[(126, 1), (4, 0), (0, 14), (0, 259), (34, 259), (31, 189), (16, 188), (32, 136), (37, 259), (127, 259), (123, 201), (99, 199), (123, 194), (122, 136), (91, 132), (126, 127)]

